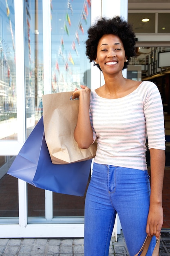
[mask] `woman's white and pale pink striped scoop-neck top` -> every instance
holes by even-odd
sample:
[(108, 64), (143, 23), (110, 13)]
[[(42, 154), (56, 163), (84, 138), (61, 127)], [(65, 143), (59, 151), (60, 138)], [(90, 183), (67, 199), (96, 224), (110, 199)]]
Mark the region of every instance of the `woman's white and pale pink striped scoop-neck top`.
[(91, 90), (90, 120), (97, 139), (94, 162), (146, 170), (148, 148), (165, 150), (163, 106), (157, 86), (142, 82), (125, 97), (105, 99)]

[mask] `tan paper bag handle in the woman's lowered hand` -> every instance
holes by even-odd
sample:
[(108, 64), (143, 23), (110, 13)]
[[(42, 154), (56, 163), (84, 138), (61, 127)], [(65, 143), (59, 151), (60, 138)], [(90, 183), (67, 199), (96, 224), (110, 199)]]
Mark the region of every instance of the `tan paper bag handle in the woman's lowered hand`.
[[(152, 237), (146, 236), (144, 244), (142, 245), (140, 251), (137, 254), (135, 254), (135, 256), (138, 256), (140, 252), (142, 252), (141, 256), (146, 256), (146, 254), (148, 252), (148, 248), (149, 248), (150, 242), (151, 242), (151, 239), (152, 239)], [(157, 243), (155, 245), (155, 248), (154, 248), (154, 251), (152, 253), (152, 256), (159, 256), (159, 246), (160, 246), (160, 236), (159, 236), (159, 238), (157, 240)]]

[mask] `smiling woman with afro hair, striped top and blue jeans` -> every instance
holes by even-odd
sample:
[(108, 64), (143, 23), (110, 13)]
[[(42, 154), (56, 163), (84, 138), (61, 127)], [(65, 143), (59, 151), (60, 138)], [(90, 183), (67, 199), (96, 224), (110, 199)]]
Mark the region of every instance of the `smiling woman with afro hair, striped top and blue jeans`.
[(97, 139), (85, 202), (84, 255), (108, 256), (118, 213), (130, 256), (139, 251), (146, 234), (153, 236), (151, 256), (163, 224), (165, 136), (159, 90), (152, 82), (123, 77), (135, 55), (135, 34), (119, 16), (102, 18), (88, 29), (86, 55), (102, 70), (105, 84), (92, 91), (81, 86), (72, 96), (79, 98), (77, 144), (88, 148)]

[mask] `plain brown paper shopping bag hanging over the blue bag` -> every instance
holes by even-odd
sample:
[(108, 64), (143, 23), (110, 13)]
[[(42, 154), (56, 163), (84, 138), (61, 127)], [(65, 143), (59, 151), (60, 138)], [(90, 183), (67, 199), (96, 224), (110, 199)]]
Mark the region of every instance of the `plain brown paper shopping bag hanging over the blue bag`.
[(74, 139), (79, 100), (70, 100), (73, 92), (42, 96), (44, 133), (53, 164), (68, 164), (95, 157), (97, 144), (88, 149), (78, 147)]

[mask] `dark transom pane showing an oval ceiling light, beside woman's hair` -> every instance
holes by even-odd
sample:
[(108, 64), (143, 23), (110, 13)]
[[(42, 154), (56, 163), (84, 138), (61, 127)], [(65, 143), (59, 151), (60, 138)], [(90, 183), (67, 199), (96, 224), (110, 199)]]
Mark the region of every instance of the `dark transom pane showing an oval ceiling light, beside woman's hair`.
[[(146, 18), (147, 22), (142, 21)], [(135, 33), (155, 33), (155, 13), (128, 13), (128, 22)]]

